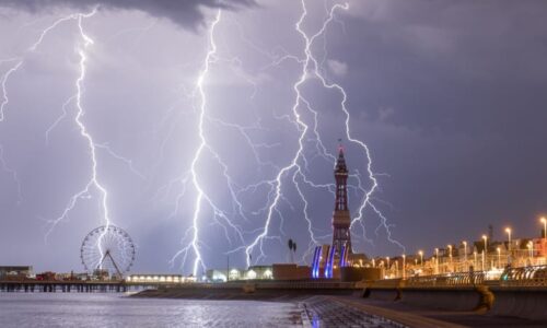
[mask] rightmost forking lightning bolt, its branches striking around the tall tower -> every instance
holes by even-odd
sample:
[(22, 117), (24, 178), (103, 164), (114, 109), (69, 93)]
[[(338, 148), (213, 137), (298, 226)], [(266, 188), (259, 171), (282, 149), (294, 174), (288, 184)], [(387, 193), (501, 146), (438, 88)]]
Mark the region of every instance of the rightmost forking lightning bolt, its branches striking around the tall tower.
[[(364, 142), (362, 142), (362, 141), (360, 141), (351, 136), (350, 124), (349, 124), (350, 122), (350, 113), (347, 108), (346, 91), (344, 90), (344, 87), (341, 85), (339, 85), (337, 83), (329, 83), (324, 78), (324, 75), (322, 74), (322, 71), (323, 71), (322, 66), (312, 51), (312, 46), (314, 45), (316, 38), (324, 36), (325, 31), (327, 30), (329, 23), (335, 21), (335, 11), (348, 10), (349, 5), (347, 3), (345, 3), (345, 4), (337, 3), (337, 4), (334, 4), (333, 7), (330, 7), (330, 9), (328, 10), (328, 16), (326, 20), (324, 20), (321, 28), (315, 34), (310, 35), (302, 30), (302, 24), (307, 16), (307, 9), (306, 9), (306, 3), (304, 0), (301, 0), (301, 4), (302, 4), (302, 14), (295, 24), (295, 31), (301, 35), (301, 37), (304, 40), (304, 55), (305, 55), (305, 57), (303, 60), (299, 60), (299, 62), (302, 63), (302, 72), (301, 72), (300, 79), (293, 85), (293, 90), (295, 93), (295, 101), (294, 101), (294, 104), (292, 106), (292, 114), (294, 117), (293, 122), (295, 124), (298, 130), (300, 131), (300, 138), (299, 138), (299, 142), (298, 142), (299, 148), (298, 148), (292, 161), (290, 162), (290, 164), (282, 167), (282, 169), (279, 172), (279, 174), (277, 175), (277, 177), (275, 179), (275, 187), (276, 187), (275, 195), (276, 196), (275, 196), (274, 201), (271, 202), (271, 204), (268, 209), (268, 214), (266, 218), (265, 227), (261, 231), (261, 233), (253, 241), (253, 243), (251, 243), (245, 249), (245, 253), (247, 255), (247, 266), (251, 265), (251, 254), (253, 253), (253, 250), (256, 247), (259, 248), (260, 257), (265, 256), (265, 253), (263, 249), (263, 243), (269, 234), (269, 226), (271, 224), (272, 215), (276, 212), (276, 208), (279, 206), (280, 199), (282, 198), (283, 178), (286, 177), (286, 175), (289, 175), (291, 172), (294, 172), (292, 174), (292, 184), (296, 188), (298, 194), (299, 194), (302, 202), (304, 203), (303, 212), (304, 212), (304, 219), (307, 222), (307, 230), (309, 230), (310, 237), (311, 237), (311, 244), (315, 244), (315, 245), (317, 244), (316, 237), (314, 236), (314, 232), (312, 229), (313, 224), (312, 224), (312, 221), (310, 219), (310, 215), (307, 214), (309, 202), (307, 202), (305, 196), (303, 195), (303, 192), (299, 186), (296, 177), (300, 177), (305, 184), (307, 184), (314, 188), (323, 187), (323, 188), (327, 188), (329, 191), (331, 191), (333, 185), (317, 185), (317, 184), (314, 184), (313, 181), (311, 181), (310, 179), (307, 179), (305, 176), (305, 172), (307, 171), (307, 160), (304, 155), (304, 139), (305, 139), (306, 133), (310, 130), (310, 126), (306, 125), (301, 118), (302, 117), (302, 114), (301, 114), (302, 107), (305, 108), (306, 110), (309, 110), (314, 117), (313, 133), (315, 137), (314, 140), (315, 140), (315, 145), (316, 145), (318, 154), (321, 156), (323, 156), (324, 159), (329, 160), (333, 163), (333, 165), (335, 164), (334, 162), (336, 159), (334, 157), (334, 155), (331, 155), (330, 153), (328, 153), (326, 151), (326, 148), (324, 147), (324, 143), (321, 139), (321, 134), (317, 131), (318, 113), (312, 108), (310, 102), (303, 96), (303, 94), (301, 92), (301, 86), (307, 80), (311, 80), (311, 79), (318, 80), (322, 83), (324, 89), (336, 90), (339, 94), (341, 94), (342, 99), (340, 102), (340, 108), (346, 117), (346, 119), (345, 119), (346, 138), (349, 142), (359, 145), (359, 148), (362, 150), (362, 152), (364, 153), (364, 155), (366, 157), (366, 173), (368, 173), (368, 178), (370, 179), (372, 186), (369, 189), (365, 189), (361, 184), (361, 179), (359, 178), (359, 173), (358, 173), (358, 175), (352, 175), (352, 177), (358, 179), (358, 189), (360, 189), (363, 192), (363, 197), (362, 197), (362, 200), (361, 200), (359, 209), (358, 209), (358, 214), (351, 221), (351, 227), (358, 222), (362, 223), (363, 212), (364, 212), (365, 208), (370, 208), (381, 219), (380, 226), (383, 226), (386, 230), (388, 241), (396, 244), (400, 248), (405, 249), (405, 247), (399, 242), (395, 241), (392, 237), (392, 232), (389, 230), (389, 225), (387, 224), (386, 216), (372, 203), (372, 196), (374, 195), (374, 192), (379, 188), (379, 181), (377, 181), (376, 175), (374, 174), (374, 172), (372, 169), (372, 157), (371, 157), (371, 152), (369, 150), (369, 147)], [(272, 65), (274, 66), (278, 65), (280, 61), (286, 60), (286, 59), (290, 59), (290, 58), (293, 58), (293, 57), (292, 56), (284, 56), (280, 60), (276, 61)], [(377, 229), (376, 229), (376, 232), (377, 232)], [(306, 254), (310, 254), (310, 249), (311, 248), (309, 247), (309, 250)]]

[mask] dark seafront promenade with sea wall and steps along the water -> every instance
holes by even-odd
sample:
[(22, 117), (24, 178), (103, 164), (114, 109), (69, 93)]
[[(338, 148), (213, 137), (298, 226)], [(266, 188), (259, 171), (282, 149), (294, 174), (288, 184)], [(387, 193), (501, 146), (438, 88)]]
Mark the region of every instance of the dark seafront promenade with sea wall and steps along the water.
[(359, 283), (194, 284), (136, 296), (293, 302), (319, 327), (547, 327), (544, 269), (508, 269), (499, 280), (485, 280), (484, 272), (461, 272)]

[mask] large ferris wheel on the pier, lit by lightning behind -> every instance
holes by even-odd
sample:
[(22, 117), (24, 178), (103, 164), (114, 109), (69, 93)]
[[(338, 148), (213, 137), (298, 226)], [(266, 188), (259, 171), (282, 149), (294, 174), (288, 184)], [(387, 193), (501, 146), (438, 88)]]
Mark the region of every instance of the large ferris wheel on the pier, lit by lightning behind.
[(135, 261), (135, 245), (129, 234), (115, 225), (92, 230), (83, 239), (80, 257), (85, 270), (96, 270), (121, 277)]

